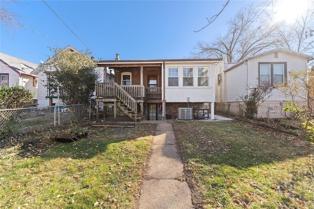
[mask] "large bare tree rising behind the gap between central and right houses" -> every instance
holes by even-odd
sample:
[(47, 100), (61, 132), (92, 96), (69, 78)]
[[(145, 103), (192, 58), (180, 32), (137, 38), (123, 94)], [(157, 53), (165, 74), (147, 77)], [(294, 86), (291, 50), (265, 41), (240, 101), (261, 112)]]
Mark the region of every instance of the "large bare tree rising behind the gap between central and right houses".
[[(267, 1), (268, 2), (268, 1)], [(227, 58), (228, 62), (238, 62), (249, 55), (271, 49), (278, 44), (275, 25), (265, 24), (262, 18), (265, 6), (250, 4), (242, 8), (228, 22), (225, 35), (218, 35), (210, 43), (199, 42), (198, 55), (201, 57)], [(264, 17), (264, 16), (263, 16)]]

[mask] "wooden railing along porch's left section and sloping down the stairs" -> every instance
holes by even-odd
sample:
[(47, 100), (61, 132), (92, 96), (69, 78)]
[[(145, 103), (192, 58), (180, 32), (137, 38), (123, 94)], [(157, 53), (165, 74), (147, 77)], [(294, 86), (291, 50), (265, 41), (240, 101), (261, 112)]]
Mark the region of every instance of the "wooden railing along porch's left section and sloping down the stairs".
[(118, 98), (137, 114), (136, 100), (116, 82), (96, 83), (96, 96)]

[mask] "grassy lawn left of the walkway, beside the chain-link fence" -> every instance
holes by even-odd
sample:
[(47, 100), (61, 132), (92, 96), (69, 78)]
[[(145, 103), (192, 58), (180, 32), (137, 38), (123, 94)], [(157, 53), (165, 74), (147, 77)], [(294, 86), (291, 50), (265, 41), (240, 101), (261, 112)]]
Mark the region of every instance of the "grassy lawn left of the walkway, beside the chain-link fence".
[(36, 148), (50, 140), (44, 135), (1, 149), (0, 208), (136, 208), (155, 131), (156, 124), (89, 128), (86, 138), (44, 153)]

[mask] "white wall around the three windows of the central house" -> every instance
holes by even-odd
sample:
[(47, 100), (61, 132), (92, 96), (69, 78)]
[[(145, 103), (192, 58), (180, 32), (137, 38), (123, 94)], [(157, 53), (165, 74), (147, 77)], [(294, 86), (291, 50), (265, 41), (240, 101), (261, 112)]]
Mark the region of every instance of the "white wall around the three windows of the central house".
[[(179, 86), (168, 86), (168, 68), (179, 68)], [(183, 67), (193, 68), (193, 86), (183, 86)], [(197, 86), (198, 67), (209, 68), (209, 86)], [(167, 103), (215, 102), (214, 63), (171, 63), (165, 64), (165, 100)]]

